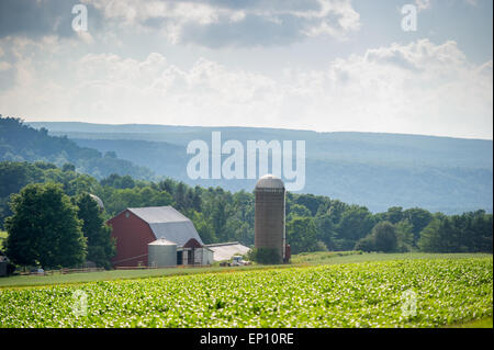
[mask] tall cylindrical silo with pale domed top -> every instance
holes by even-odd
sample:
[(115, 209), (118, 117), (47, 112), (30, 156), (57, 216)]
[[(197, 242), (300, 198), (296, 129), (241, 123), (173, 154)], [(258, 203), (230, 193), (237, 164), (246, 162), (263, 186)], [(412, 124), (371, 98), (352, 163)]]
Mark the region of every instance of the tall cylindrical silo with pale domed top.
[(274, 249), (284, 259), (284, 184), (280, 178), (266, 174), (256, 183), (256, 248)]

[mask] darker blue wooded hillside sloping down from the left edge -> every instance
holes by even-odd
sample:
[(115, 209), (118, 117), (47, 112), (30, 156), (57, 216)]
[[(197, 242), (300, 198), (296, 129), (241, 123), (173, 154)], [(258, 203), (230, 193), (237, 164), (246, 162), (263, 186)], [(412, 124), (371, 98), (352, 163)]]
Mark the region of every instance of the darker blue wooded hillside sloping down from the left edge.
[(150, 179), (153, 171), (119, 159), (115, 153), (80, 147), (66, 136), (50, 136), (46, 128), (35, 129), (20, 118), (0, 115), (0, 161), (49, 161), (57, 166), (71, 163), (80, 172), (102, 179), (112, 173)]

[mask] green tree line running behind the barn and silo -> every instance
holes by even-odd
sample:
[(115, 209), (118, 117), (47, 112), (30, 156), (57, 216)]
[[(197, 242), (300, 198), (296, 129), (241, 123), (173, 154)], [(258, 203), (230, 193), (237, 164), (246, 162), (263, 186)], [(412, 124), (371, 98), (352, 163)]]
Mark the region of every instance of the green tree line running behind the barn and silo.
[[(44, 184), (34, 185), (34, 190), (33, 183)], [(58, 190), (48, 183), (55, 183)], [(29, 184), (31, 187), (25, 188)], [(255, 196), (251, 192), (232, 193), (222, 188), (190, 187), (169, 178), (146, 181), (131, 176), (111, 174), (97, 180), (75, 171), (70, 163), (57, 167), (43, 161), (0, 162), (0, 222), (3, 227), (7, 230), (13, 229), (15, 221), (12, 216), (19, 211), (21, 197), (27, 195), (26, 189), (44, 193), (48, 188), (59, 197), (65, 195), (69, 199), (63, 200), (75, 206), (68, 212), (80, 213), (80, 207), (83, 207), (80, 201), (88, 193), (96, 194), (103, 201), (104, 212), (96, 215), (92, 207), (92, 214), (87, 216), (87, 219), (94, 215), (100, 217), (101, 225), (85, 224), (86, 221), (80, 217), (82, 214), (77, 217), (79, 224), (70, 224), (71, 227), (80, 226), (82, 237), (86, 237), (85, 259), (99, 260), (100, 266), (109, 264), (112, 251), (108, 248), (106, 240), (90, 244), (91, 233), (98, 232), (99, 226), (104, 227), (106, 219), (126, 207), (172, 205), (191, 218), (205, 244), (239, 241), (247, 246), (254, 245)], [(15, 194), (19, 192), (20, 194)], [(352, 249), (492, 252), (492, 214), (484, 211), (448, 216), (418, 207), (390, 207), (386, 212), (373, 214), (366, 206), (322, 195), (290, 192), (287, 193), (285, 206), (287, 241), (291, 245), (292, 253)], [(33, 214), (26, 214), (24, 219), (30, 215), (34, 217)], [(5, 219), (7, 217), (10, 218)], [(55, 221), (48, 216), (41, 219), (46, 223)], [(92, 228), (85, 229), (85, 225)], [(80, 234), (77, 233), (76, 236), (79, 237)], [(90, 251), (92, 253), (88, 255)], [(102, 258), (96, 258), (98, 255)], [(75, 262), (57, 263), (69, 266)]]

